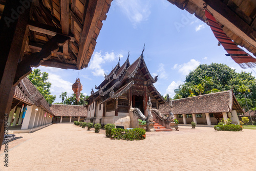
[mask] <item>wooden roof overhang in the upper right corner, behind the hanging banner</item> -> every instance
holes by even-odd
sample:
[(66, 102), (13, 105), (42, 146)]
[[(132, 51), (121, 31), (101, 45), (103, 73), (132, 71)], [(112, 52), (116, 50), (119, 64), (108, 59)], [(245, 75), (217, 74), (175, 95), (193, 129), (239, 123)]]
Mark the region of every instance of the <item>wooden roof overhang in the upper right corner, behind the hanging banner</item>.
[(167, 0), (205, 22), (204, 6), (235, 44), (256, 56), (255, 0)]

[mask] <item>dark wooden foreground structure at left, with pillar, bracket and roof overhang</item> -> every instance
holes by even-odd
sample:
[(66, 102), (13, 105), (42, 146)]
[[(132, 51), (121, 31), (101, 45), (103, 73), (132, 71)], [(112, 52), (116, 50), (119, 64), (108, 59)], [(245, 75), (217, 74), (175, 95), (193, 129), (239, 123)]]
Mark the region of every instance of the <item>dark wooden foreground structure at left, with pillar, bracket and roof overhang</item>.
[(0, 1), (1, 143), (4, 117), (12, 109), (15, 86), (31, 73), (31, 67), (86, 68), (111, 2)]

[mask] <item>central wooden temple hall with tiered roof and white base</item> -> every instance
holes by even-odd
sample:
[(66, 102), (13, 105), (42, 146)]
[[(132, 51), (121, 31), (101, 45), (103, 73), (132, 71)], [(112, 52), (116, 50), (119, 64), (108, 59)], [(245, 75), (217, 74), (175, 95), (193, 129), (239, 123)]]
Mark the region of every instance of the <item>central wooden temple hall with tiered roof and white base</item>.
[[(144, 50), (143, 50), (144, 51)], [(152, 77), (143, 59), (143, 51), (132, 65), (129, 62), (129, 55), (126, 61), (120, 66), (120, 59), (110, 74), (95, 86), (96, 92), (91, 92), (86, 105), (88, 118), (86, 122), (114, 123), (126, 127), (133, 127), (137, 117), (130, 108), (138, 108), (147, 116), (146, 108), (148, 98), (151, 98), (152, 108), (159, 108), (165, 103), (164, 98), (156, 90), (153, 83), (157, 77)]]

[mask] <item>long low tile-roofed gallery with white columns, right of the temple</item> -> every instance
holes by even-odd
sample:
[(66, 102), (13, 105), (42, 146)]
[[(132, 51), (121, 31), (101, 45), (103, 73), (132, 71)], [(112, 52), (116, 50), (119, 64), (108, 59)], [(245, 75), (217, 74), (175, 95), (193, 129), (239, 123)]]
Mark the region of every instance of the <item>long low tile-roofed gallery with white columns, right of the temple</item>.
[[(197, 124), (214, 125), (222, 118), (230, 118), (233, 124), (240, 124), (238, 114), (244, 113), (232, 90), (204, 94), (195, 97), (172, 100), (172, 109), (180, 124), (190, 124), (192, 121)], [(169, 106), (162, 104), (159, 111), (168, 115)]]

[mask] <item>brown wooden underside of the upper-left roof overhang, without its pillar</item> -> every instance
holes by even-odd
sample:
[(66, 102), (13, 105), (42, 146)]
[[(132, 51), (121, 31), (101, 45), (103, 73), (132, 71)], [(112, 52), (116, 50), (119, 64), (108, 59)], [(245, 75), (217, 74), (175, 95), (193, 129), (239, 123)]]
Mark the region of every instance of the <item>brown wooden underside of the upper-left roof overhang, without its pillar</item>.
[[(0, 1), (0, 19), (5, 3)], [(62, 69), (88, 67), (96, 40), (113, 0), (34, 0), (27, 25), (26, 47), (23, 58), (42, 51), (56, 35), (66, 36), (58, 48), (41, 58), (37, 65)], [(31, 2), (31, 1), (28, 1)], [(30, 61), (33, 63), (32, 61)], [(31, 67), (30, 66), (30, 67)]]

